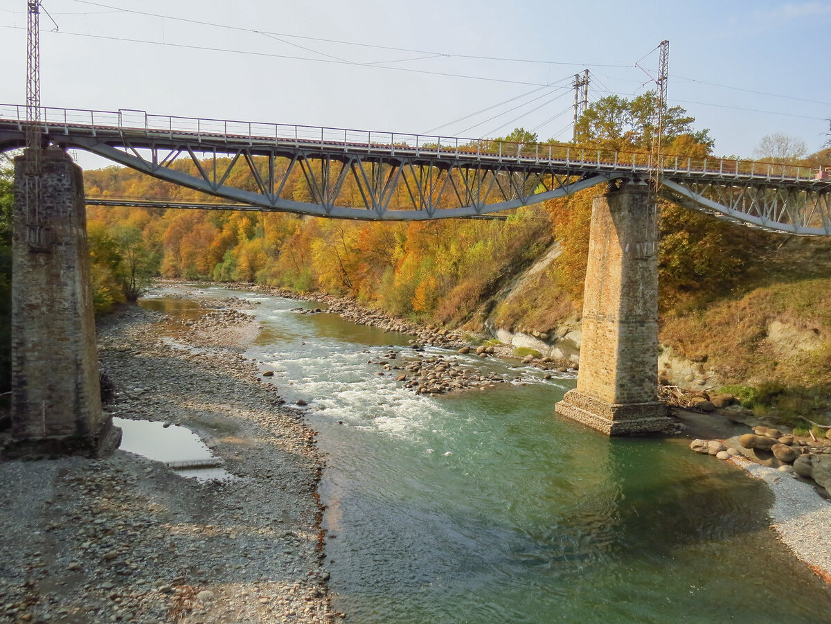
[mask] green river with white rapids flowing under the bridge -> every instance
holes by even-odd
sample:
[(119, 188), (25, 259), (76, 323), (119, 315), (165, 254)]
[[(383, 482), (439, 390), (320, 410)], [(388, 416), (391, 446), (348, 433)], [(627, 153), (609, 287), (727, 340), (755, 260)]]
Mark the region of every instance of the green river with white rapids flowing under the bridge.
[[(765, 484), (688, 440), (563, 420), (573, 378), (460, 356), (519, 381), (417, 396), (368, 363), (411, 361), (410, 337), (292, 311), (317, 303), (187, 292), (258, 302), (246, 355), (309, 404), (332, 602), (349, 621), (831, 622), (831, 588), (769, 527)], [(192, 313), (160, 296), (145, 305)]]

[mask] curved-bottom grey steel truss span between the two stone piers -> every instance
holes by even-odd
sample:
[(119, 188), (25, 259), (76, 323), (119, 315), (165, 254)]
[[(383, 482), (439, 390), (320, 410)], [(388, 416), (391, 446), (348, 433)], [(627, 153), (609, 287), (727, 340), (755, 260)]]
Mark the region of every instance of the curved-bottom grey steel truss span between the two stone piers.
[[(607, 174), (577, 169), (572, 172), (534, 171), (529, 167), (517, 168), (499, 163), (474, 168), (460, 162), (442, 166), (406, 156), (394, 160), (373, 156), (369, 160), (355, 155), (335, 160), (331, 155), (298, 150), (291, 160), (287, 159), (288, 165), (283, 173), (275, 175), (271, 183), (282, 189), (295, 169), (299, 169), (309, 201), (298, 201), (281, 196), (263, 182), (260, 168), (266, 162), (285, 159), (286, 155), (282, 152), (268, 153), (267, 159), (263, 159), (262, 150), (255, 153), (248, 148), (236, 148), (229, 152), (229, 159), (206, 168), (206, 159), (200, 160), (192, 145), (152, 145), (148, 149), (136, 147), (129, 140), (124, 143), (119, 149), (81, 137), (73, 140), (72, 145), (155, 178), (230, 202), (249, 204), (264, 211), (336, 219), (417, 221), (473, 217), (564, 197), (612, 179)], [(171, 158), (173, 154), (187, 155), (193, 161), (197, 174), (189, 174), (181, 166), (174, 166), (178, 160)], [(273, 170), (273, 165), (268, 166)], [(231, 179), (238, 167), (243, 168), (243, 180), (248, 182), (249, 188), (232, 184)], [(357, 180), (356, 186), (360, 190), (357, 199), (361, 201), (357, 206), (342, 204), (356, 199), (342, 196), (349, 174)], [(460, 192), (453, 192), (455, 184), (462, 185)], [(409, 209), (390, 208), (396, 189), (399, 194), (404, 189)]]

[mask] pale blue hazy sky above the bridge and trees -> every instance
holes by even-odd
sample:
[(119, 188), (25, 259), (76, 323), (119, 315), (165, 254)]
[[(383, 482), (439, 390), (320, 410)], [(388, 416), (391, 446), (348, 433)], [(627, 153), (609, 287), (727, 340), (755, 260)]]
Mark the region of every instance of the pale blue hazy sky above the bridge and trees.
[[(717, 155), (751, 157), (773, 132), (809, 151), (829, 138), (831, 2), (42, 6), (57, 22), (54, 32), (42, 12), (43, 106), (465, 137), (523, 126), (568, 140), (573, 74), (591, 71), (590, 100), (635, 96), (651, 88), (654, 49), (668, 39), (669, 102), (710, 129)], [(0, 0), (2, 103), (25, 102), (25, 28), (25, 0)]]

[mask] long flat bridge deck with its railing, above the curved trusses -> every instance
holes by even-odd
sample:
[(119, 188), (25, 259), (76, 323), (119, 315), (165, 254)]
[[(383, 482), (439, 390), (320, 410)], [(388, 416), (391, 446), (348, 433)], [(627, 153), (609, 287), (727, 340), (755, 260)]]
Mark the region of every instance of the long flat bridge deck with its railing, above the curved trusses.
[[(0, 104), (0, 134), (6, 140), (22, 135), (26, 128), (25, 106)], [(130, 113), (134, 116), (130, 116)], [(135, 114), (140, 115), (136, 119)], [(413, 135), (371, 130), (350, 130), (309, 125), (266, 124), (251, 121), (200, 119), (170, 115), (148, 115), (143, 111), (81, 111), (42, 108), (47, 137), (61, 137), (73, 145), (76, 138), (94, 138), (110, 145), (135, 149), (190, 145), (194, 151), (225, 152), (240, 147), (253, 154), (293, 157), (298, 150), (348, 160), (354, 155), (385, 161), (424, 160), (440, 166), (490, 168), (518, 165), (539, 170), (597, 170), (622, 175), (648, 175), (651, 156), (642, 152), (591, 150), (573, 145), (519, 144), (498, 140), (462, 139), (438, 135)], [(373, 138), (374, 137), (374, 138)], [(83, 145), (77, 145), (83, 147)], [(200, 149), (197, 149), (200, 148)], [(667, 156), (661, 172), (672, 176), (711, 181), (736, 179), (757, 182), (792, 182), (800, 186), (831, 188), (831, 179), (819, 169), (770, 162), (720, 158)]]

